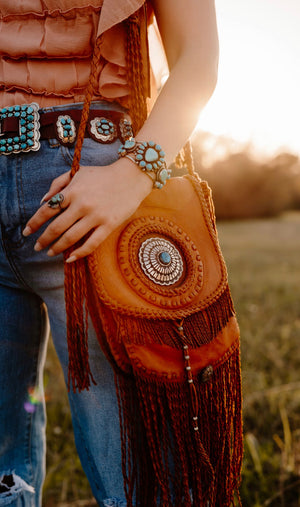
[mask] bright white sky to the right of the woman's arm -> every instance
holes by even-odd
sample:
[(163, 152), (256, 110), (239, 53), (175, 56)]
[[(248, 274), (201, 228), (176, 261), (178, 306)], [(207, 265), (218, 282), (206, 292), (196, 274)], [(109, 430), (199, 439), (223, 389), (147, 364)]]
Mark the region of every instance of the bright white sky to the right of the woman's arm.
[(300, 155), (300, 0), (216, 0), (220, 66), (198, 129)]

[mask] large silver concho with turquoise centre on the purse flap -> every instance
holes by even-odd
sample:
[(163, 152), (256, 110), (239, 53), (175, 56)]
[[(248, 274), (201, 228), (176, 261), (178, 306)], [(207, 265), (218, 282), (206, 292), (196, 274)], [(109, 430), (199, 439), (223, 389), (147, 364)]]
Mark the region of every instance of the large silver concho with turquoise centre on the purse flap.
[(159, 285), (173, 285), (183, 274), (183, 260), (178, 248), (171, 241), (148, 238), (139, 248), (139, 262), (144, 274)]

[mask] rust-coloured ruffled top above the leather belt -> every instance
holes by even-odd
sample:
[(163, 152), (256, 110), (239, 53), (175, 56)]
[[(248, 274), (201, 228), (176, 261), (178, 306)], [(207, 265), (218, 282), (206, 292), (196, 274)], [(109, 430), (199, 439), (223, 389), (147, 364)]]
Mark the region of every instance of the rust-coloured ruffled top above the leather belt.
[(95, 99), (126, 106), (122, 21), (144, 0), (0, 0), (0, 106), (82, 102), (97, 36)]

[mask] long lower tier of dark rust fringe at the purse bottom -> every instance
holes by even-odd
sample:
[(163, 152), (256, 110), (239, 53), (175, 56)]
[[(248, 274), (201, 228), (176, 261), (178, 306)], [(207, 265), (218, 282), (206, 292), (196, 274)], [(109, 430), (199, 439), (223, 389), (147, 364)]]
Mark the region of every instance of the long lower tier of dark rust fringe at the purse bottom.
[(240, 382), (238, 347), (212, 380), (195, 376), (196, 432), (186, 382), (116, 374), (128, 507), (234, 504), (243, 449)]

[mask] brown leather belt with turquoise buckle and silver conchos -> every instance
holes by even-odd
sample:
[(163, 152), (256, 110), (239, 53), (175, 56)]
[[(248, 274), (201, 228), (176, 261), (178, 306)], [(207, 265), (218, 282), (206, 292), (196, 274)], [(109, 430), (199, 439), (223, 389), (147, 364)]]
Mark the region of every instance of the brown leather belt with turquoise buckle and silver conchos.
[[(81, 109), (44, 112), (38, 105), (25, 104), (0, 110), (0, 154), (37, 151), (39, 141), (57, 139), (65, 146), (76, 142)], [(89, 113), (85, 137), (99, 143), (122, 142), (133, 136), (130, 118), (126, 113), (106, 109), (92, 109)]]

